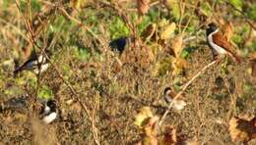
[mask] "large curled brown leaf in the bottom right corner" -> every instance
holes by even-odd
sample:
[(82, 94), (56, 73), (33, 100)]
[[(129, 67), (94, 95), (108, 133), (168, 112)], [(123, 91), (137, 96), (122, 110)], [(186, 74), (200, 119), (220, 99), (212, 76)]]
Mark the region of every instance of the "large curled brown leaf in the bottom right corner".
[(232, 141), (241, 141), (244, 143), (249, 142), (256, 138), (256, 118), (251, 121), (240, 119), (238, 117), (233, 117), (229, 121), (229, 134)]

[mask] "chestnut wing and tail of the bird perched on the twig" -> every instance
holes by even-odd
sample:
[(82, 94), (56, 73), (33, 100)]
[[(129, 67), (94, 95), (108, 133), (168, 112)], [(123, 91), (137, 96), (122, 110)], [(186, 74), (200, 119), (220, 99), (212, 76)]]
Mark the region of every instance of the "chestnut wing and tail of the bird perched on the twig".
[(235, 54), (235, 52), (233, 52), (231, 50), (232, 48), (232, 44), (227, 42), (226, 39), (224, 38), (224, 36), (222, 35), (222, 33), (217, 32), (215, 34), (213, 34), (213, 41), (218, 45), (224, 48), (224, 50), (226, 50), (232, 57), (234, 57), (234, 59), (240, 63), (241, 60), (240, 58)]

